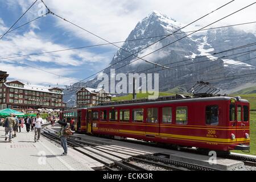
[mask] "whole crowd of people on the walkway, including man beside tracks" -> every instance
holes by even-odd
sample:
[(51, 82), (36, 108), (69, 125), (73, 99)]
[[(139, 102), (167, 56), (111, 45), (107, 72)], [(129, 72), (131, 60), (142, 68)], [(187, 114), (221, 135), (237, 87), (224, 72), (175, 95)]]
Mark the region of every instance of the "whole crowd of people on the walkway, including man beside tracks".
[[(58, 118), (49, 115), (47, 121), (54, 126), (55, 121), (59, 123), (61, 126), (60, 130), (60, 139), (61, 139), (61, 146), (64, 149), (62, 155), (68, 154), (68, 145), (67, 145), (67, 138), (69, 135), (75, 133), (74, 127), (74, 119), (68, 121), (67, 118), (64, 118), (63, 121), (60, 121)], [(40, 141), (40, 133), (42, 129), (43, 119), (40, 117), (40, 114), (37, 114), (36, 117), (26, 117), (26, 118), (18, 118), (15, 114), (10, 114), (7, 118), (1, 118), (1, 126), (5, 127), (5, 141), (9, 138), (9, 142), (12, 143), (12, 139), (17, 137), (17, 133), (21, 132), (21, 129), (26, 126), (26, 131), (29, 133), (30, 131), (35, 131), (34, 141)]]

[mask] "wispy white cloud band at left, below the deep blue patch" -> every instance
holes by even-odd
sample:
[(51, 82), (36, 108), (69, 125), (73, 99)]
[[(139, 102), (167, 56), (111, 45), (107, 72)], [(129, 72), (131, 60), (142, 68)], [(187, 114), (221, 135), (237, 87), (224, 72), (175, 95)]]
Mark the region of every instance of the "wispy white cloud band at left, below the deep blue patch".
[[(48, 52), (69, 47), (55, 44), (50, 40), (41, 38), (34, 31), (26, 32), (24, 35), (6, 36), (0, 44), (1, 57), (11, 57), (14, 55), (29, 55), (31, 53)], [(23, 60), (22, 59), (19, 60)], [(89, 62), (100, 62), (104, 59), (101, 54), (85, 51), (85, 49), (71, 50), (64, 52), (48, 53), (26, 57), (29, 61), (40, 61), (45, 63), (55, 63), (59, 65), (79, 66)]]

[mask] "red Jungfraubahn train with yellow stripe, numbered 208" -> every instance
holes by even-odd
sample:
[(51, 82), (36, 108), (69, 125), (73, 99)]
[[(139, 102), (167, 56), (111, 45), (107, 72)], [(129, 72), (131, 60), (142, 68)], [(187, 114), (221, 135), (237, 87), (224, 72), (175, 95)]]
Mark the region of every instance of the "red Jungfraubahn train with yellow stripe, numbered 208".
[(64, 117), (74, 118), (75, 129), (85, 133), (217, 151), (250, 149), (250, 104), (240, 97), (110, 102), (66, 110)]

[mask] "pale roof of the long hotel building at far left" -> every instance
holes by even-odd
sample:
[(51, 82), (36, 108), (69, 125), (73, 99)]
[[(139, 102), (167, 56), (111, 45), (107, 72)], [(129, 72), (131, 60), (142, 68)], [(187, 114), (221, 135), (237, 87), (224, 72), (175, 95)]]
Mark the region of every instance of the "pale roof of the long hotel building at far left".
[(35, 91), (35, 92), (45, 92), (45, 93), (52, 93), (52, 94), (63, 94), (62, 92), (61, 93), (57, 93), (57, 92), (51, 92), (50, 91), (50, 90), (56, 89), (56, 88), (44, 87), (44, 86), (38, 86), (38, 85), (27, 85), (27, 84), (24, 84), (24, 83), (22, 83), (20, 81), (18, 81), (18, 82), (23, 84), (24, 88), (8, 85), (8, 84), (13, 83), (13, 82), (17, 82), (17, 81), (6, 82), (5, 86), (7, 88), (13, 88), (13, 89), (31, 90), (31, 91)]

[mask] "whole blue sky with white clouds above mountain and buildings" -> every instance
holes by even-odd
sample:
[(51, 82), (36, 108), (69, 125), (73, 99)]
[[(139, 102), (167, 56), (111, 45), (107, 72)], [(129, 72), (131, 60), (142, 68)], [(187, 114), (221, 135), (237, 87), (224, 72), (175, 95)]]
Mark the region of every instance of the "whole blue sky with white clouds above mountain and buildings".
[[(3, 34), (34, 1), (0, 0), (0, 34)], [(45, 0), (45, 2), (56, 14), (79, 24), (110, 42), (117, 42), (125, 40), (139, 20), (153, 10), (160, 11), (178, 22), (186, 24), (229, 1)], [(211, 15), (197, 24), (203, 26), (252, 2), (254, 1), (236, 0), (227, 9)], [(241, 14), (226, 19), (215, 26), (255, 21), (255, 7), (250, 7)], [(32, 7), (16, 26), (37, 18), (40, 15), (39, 13), (40, 1)], [(192, 26), (191, 30), (193, 28), (195, 27)], [(242, 28), (246, 31), (256, 32), (255, 24)], [(27, 55), (102, 43), (105, 42), (56, 18), (56, 16), (47, 15), (7, 34), (5, 38), (0, 40), (0, 59), (1, 57)], [(121, 45), (118, 44), (118, 46)], [(59, 82), (63, 86), (82, 80), (107, 67), (115, 52), (117, 52), (117, 48), (113, 46), (101, 46), (13, 59), (20, 64), (10, 60), (0, 60), (0, 69), (9, 72), (9, 80), (52, 86)], [(59, 80), (58, 76), (38, 71), (22, 63), (69, 78), (60, 77)]]

